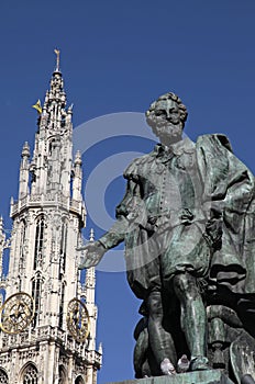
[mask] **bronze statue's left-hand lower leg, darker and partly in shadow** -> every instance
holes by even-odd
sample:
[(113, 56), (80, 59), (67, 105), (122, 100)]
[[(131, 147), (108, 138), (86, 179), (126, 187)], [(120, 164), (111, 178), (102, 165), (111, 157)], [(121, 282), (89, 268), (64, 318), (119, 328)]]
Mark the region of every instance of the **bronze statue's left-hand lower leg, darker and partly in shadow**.
[(163, 305), (159, 291), (152, 291), (146, 300), (148, 308), (148, 340), (156, 363), (160, 368), (165, 359), (176, 364), (177, 357), (173, 338), (163, 327)]

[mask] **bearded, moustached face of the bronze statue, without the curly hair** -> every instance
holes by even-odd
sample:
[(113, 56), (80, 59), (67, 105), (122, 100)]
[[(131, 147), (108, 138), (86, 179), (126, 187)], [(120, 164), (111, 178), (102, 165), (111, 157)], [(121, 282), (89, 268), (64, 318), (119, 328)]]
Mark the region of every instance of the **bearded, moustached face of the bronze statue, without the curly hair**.
[(157, 100), (147, 116), (147, 122), (162, 144), (170, 145), (181, 139), (180, 110), (174, 100)]

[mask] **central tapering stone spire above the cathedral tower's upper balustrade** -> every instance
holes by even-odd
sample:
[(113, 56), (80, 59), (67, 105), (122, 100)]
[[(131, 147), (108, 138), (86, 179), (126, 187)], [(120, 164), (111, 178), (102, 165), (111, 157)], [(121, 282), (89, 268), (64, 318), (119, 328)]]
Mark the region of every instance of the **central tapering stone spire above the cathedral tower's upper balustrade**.
[[(66, 92), (60, 72), (59, 50), (56, 68), (52, 75), (49, 90), (46, 91), (38, 131), (35, 137), (33, 159), (31, 162), (31, 194), (62, 194), (69, 197), (73, 158), (71, 108), (66, 109)], [(81, 170), (77, 172), (76, 193), (81, 202)], [(25, 189), (23, 187), (23, 189)]]

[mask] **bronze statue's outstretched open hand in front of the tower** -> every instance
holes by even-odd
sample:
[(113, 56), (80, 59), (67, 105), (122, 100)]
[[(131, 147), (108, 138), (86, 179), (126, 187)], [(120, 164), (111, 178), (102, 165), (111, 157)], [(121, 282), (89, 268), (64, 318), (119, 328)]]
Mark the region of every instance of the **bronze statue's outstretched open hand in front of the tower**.
[(97, 266), (107, 251), (100, 241), (89, 242), (77, 250), (86, 252), (82, 263), (78, 267), (79, 270)]

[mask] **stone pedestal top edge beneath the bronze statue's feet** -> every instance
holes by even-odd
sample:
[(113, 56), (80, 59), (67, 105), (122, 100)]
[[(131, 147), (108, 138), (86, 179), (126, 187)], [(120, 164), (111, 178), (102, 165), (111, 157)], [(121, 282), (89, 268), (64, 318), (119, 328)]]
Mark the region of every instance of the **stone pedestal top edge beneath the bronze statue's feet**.
[(126, 380), (108, 384), (233, 384), (220, 370), (181, 373), (174, 376), (158, 376), (140, 380)]

